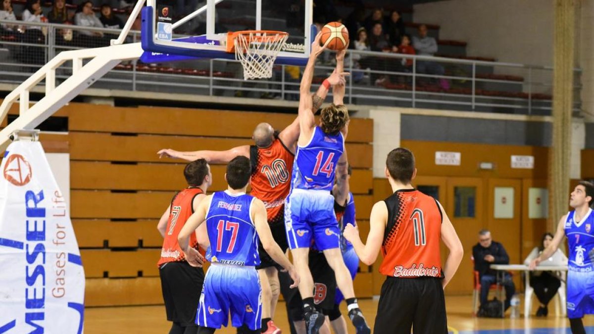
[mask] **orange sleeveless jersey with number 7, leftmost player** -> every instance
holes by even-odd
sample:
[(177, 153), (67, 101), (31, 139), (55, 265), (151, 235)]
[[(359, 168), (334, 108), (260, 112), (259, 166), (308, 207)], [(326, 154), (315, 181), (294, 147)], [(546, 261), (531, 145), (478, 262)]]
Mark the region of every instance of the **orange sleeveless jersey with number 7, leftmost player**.
[[(189, 216), (194, 213), (192, 203), (194, 203), (194, 198), (200, 194), (204, 194), (200, 188), (186, 188), (173, 197), (167, 228), (165, 229), (165, 240), (163, 240), (163, 248), (161, 248), (161, 259), (157, 266), (167, 262), (185, 260), (184, 252), (178, 244), (178, 235)], [(196, 241), (194, 233), (189, 237), (189, 245), (196, 248), (204, 256), (205, 252), (198, 247), (198, 241)]]

